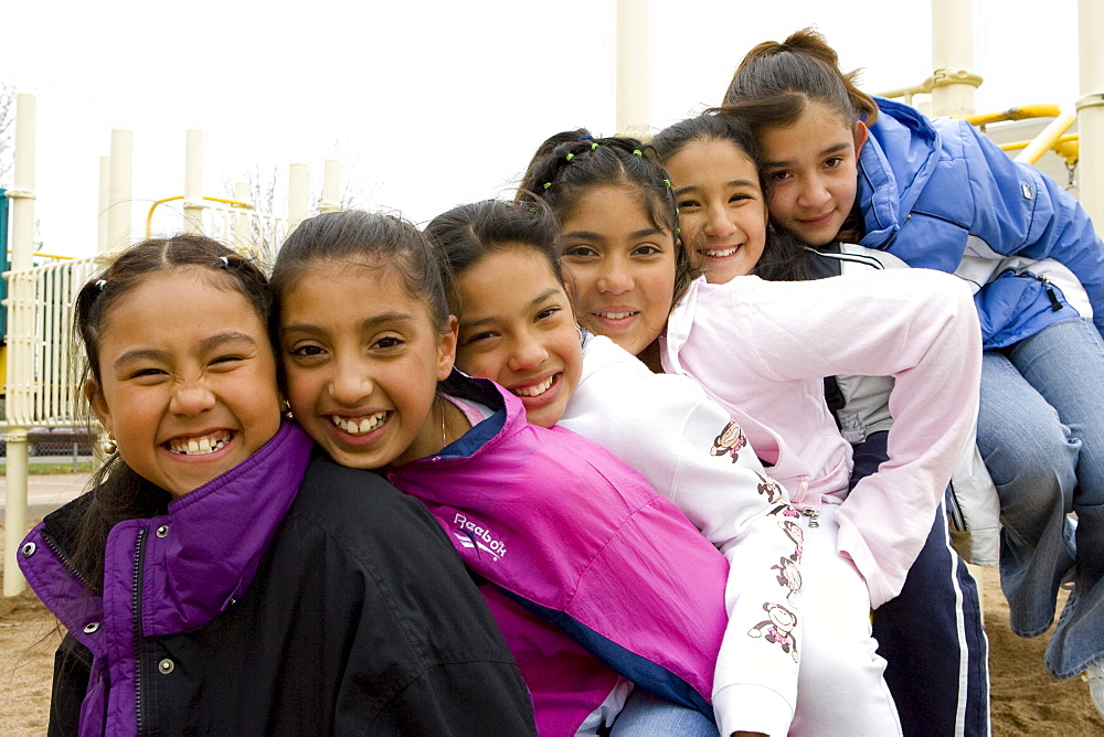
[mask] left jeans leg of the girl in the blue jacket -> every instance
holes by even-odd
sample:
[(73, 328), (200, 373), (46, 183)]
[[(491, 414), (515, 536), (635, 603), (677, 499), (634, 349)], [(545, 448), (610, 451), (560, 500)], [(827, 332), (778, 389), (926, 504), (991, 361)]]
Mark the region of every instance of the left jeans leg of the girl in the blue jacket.
[(1065, 515), (1081, 441), (1004, 353), (986, 351), (977, 447), (1000, 498), (1000, 586), (1011, 628), (1038, 637), (1053, 622), (1058, 587), (1073, 565)]

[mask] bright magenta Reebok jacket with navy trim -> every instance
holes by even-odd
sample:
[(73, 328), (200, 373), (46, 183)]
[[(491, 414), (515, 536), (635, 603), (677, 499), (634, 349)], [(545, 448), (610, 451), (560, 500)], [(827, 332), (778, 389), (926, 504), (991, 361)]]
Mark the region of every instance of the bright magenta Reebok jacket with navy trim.
[[(618, 675), (712, 715), (728, 564), (631, 468), (458, 373), (447, 394), (495, 414), (439, 456), (389, 472), (445, 527), (521, 666), (542, 734), (616, 714)], [(550, 623), (552, 626), (550, 626)]]

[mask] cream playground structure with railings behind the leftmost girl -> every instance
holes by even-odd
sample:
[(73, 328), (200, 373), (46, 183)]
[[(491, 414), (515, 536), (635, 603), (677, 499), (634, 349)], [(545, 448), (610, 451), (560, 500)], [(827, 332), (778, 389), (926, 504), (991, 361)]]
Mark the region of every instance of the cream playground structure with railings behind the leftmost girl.
[[(12, 200), (12, 261), (7, 277), (6, 439), (7, 499), (4, 535), (4, 596), (25, 587), (15, 564), (15, 547), (26, 527), (28, 430), (32, 427), (79, 428), (82, 416), (76, 385), (83, 356), (72, 340), (73, 301), (81, 288), (109, 259), (112, 252), (131, 244), (131, 151), (128, 130), (112, 131), (112, 154), (100, 160), (100, 216), (97, 255), (34, 266), (34, 129), (35, 100), (20, 95), (17, 102), (15, 186)], [(202, 193), (203, 137), (187, 133), (184, 194), (155, 203), (147, 217), (166, 203), (181, 201), (183, 222), (173, 231), (203, 233), (232, 247), (270, 260), (287, 233), (310, 212), (310, 178), (306, 164), (291, 164), (288, 215), (257, 212), (246, 202), (248, 185), (235, 184), (235, 199)], [(323, 195), (318, 210), (340, 209), (340, 167), (326, 162)], [(149, 235), (147, 229), (146, 235)], [(7, 532), (10, 531), (10, 532)]]

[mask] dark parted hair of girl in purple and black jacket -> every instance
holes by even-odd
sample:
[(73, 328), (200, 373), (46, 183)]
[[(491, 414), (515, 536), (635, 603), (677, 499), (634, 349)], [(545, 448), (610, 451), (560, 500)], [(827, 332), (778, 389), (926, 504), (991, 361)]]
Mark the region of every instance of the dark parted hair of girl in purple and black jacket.
[[(262, 324), (268, 321), (268, 280), (250, 260), (217, 241), (199, 235), (150, 239), (123, 252), (103, 273), (86, 284), (74, 305), (74, 331), (87, 356), (81, 386), (91, 380), (103, 386), (99, 348), (110, 329), (112, 311), (149, 276), (180, 267), (210, 269), (212, 284), (233, 289), (245, 298)], [(138, 476), (113, 452), (93, 476), (93, 489), (84, 498), (71, 562), (94, 590), (104, 584), (104, 551), (107, 535), (124, 520), (150, 517), (164, 511), (169, 493)]]

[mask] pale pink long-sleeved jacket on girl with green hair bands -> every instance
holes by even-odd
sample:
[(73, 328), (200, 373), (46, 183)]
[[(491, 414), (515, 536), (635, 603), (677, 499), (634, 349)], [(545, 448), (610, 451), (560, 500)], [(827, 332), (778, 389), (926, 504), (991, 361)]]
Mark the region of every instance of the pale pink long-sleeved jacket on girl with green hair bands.
[[(970, 437), (980, 344), (968, 287), (937, 271), (702, 278), (668, 321), (662, 362), (733, 413), (796, 506), (842, 502), (838, 549), (878, 607), (901, 591)], [(890, 459), (850, 495), (851, 448), (824, 400), (834, 374), (895, 377)]]

